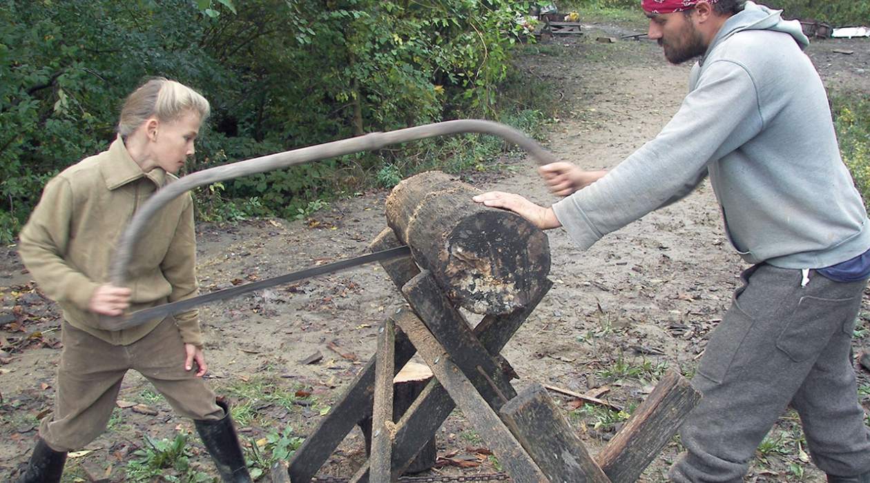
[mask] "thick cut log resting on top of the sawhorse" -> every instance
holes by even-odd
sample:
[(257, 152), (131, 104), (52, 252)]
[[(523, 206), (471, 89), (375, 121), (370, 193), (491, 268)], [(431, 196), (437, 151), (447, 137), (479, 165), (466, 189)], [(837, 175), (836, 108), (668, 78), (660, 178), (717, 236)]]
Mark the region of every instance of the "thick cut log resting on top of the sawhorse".
[(550, 246), (523, 217), (473, 202), (479, 193), (438, 171), (412, 176), (387, 198), (387, 224), (452, 301), (509, 314), (539, 298)]

